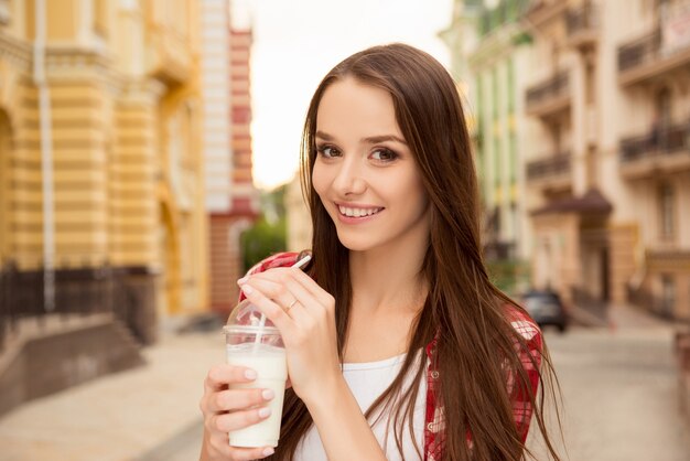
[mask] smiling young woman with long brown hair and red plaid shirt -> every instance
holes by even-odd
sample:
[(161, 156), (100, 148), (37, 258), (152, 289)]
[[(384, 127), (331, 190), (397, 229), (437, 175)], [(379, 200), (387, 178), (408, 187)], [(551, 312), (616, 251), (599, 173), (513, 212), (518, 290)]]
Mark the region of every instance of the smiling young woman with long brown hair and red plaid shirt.
[[(541, 333), (487, 276), (477, 180), (455, 85), (433, 57), (392, 44), (335, 66), (302, 142), (314, 260), (263, 261), (240, 279), (280, 329), (291, 387), (271, 448), (228, 446), (271, 393), (205, 383), (203, 460), (522, 460), (552, 373)], [(543, 369), (540, 371), (540, 369)]]

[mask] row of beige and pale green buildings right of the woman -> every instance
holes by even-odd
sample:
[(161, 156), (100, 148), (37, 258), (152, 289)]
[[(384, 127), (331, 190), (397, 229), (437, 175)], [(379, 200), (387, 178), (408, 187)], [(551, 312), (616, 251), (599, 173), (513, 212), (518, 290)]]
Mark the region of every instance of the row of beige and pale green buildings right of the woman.
[(688, 0), (455, 2), (489, 264), (690, 317), (689, 24)]

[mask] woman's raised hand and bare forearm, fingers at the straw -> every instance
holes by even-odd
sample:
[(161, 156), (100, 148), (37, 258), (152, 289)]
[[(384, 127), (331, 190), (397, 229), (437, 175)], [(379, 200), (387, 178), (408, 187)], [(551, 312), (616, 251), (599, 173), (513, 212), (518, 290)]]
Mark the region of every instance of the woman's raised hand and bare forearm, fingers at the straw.
[(238, 282), (280, 330), (292, 388), (306, 405), (328, 459), (385, 461), (343, 378), (333, 297), (297, 268), (269, 269)]

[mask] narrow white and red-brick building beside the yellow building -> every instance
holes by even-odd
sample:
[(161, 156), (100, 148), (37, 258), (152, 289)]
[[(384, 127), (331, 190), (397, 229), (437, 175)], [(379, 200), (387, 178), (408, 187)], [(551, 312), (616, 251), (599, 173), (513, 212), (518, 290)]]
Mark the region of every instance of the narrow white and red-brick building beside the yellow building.
[(250, 25), (227, 0), (203, 1), (204, 156), (211, 307), (226, 315), (241, 277), (240, 235), (259, 214), (251, 176)]

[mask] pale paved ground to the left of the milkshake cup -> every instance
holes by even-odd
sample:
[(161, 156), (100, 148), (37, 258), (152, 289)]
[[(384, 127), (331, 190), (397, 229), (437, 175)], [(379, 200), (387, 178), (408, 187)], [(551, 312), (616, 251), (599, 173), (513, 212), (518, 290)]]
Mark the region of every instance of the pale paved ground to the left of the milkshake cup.
[[(143, 355), (143, 366), (30, 401), (0, 418), (0, 461), (153, 461), (145, 454), (181, 433), (201, 435), (204, 377), (224, 360), (220, 332), (169, 333)], [(201, 439), (191, 444), (201, 447)]]

